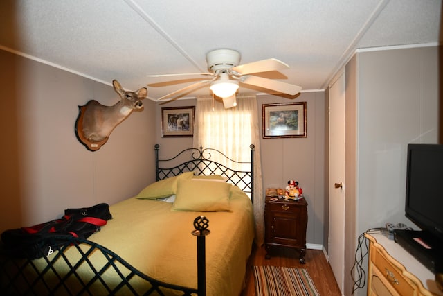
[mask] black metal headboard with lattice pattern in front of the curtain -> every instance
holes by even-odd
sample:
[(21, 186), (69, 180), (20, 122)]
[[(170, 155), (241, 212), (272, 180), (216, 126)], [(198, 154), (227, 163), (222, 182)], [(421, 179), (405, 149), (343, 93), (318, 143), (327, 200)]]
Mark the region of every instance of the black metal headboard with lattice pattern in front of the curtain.
[[(237, 162), (227, 157), (224, 153), (213, 148), (187, 148), (170, 159), (160, 159), (160, 145), (156, 144), (155, 148), (155, 171), (156, 181), (163, 180), (168, 177), (174, 177), (181, 173), (194, 172), (195, 175), (221, 175), (227, 178), (227, 182), (234, 184), (242, 189), (244, 193), (251, 197), (254, 201), (254, 151), (255, 146), (251, 144), (251, 162)], [(237, 171), (233, 168), (224, 166), (219, 162), (211, 159), (214, 153), (218, 153), (227, 159), (230, 164), (250, 164), (248, 171)], [(181, 161), (183, 159), (183, 161)], [(164, 166), (170, 167), (165, 168)], [(162, 166), (162, 167), (161, 167)]]

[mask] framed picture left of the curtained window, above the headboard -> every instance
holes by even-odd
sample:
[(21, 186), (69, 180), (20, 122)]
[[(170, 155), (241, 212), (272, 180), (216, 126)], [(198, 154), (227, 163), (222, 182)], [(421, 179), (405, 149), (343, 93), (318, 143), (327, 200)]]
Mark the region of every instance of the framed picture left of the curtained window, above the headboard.
[(195, 106), (161, 108), (161, 137), (193, 137)]

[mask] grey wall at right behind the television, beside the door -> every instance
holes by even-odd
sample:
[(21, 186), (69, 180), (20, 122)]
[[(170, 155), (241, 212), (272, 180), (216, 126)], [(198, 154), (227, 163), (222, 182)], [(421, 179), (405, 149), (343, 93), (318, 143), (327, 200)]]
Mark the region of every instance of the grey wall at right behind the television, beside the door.
[[(357, 53), (347, 64), (345, 274), (354, 263), (359, 234), (387, 222), (406, 223), (406, 148), (437, 143), (438, 48)], [(366, 257), (363, 265), (367, 271)], [(367, 275), (367, 273), (366, 273)], [(353, 281), (345, 279), (345, 295)], [(355, 295), (365, 295), (366, 288)]]

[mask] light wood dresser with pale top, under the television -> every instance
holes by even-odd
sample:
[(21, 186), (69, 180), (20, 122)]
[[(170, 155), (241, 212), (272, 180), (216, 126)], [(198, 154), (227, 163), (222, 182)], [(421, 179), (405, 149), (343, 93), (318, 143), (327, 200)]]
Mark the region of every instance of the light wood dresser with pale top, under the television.
[(443, 295), (435, 275), (401, 245), (382, 234), (365, 234), (370, 241), (368, 296)]

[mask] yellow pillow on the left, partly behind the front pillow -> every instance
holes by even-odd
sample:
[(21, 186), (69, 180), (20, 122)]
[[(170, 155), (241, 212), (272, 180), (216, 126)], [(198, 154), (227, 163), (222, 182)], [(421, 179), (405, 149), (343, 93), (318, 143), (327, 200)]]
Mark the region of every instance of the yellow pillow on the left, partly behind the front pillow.
[(146, 200), (155, 200), (157, 198), (166, 198), (177, 192), (177, 182), (181, 179), (188, 180), (192, 178), (194, 173), (187, 172), (177, 175), (175, 177), (169, 177), (157, 182), (154, 182), (146, 186), (138, 195), (137, 198)]

